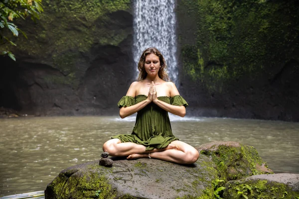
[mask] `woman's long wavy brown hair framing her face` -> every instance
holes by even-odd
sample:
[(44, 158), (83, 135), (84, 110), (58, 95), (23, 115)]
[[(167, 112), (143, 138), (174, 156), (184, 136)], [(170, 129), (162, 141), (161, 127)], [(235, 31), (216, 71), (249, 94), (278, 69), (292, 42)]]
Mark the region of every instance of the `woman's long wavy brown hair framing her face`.
[(156, 56), (159, 57), (160, 66), (161, 66), (158, 71), (159, 78), (161, 78), (166, 82), (169, 81), (168, 74), (166, 73), (167, 70), (166, 61), (163, 55), (160, 53), (160, 51), (158, 51), (158, 49), (156, 48), (148, 48), (142, 53), (138, 63), (138, 70), (139, 70), (138, 81), (144, 80), (148, 76), (148, 73), (146, 72), (145, 69), (145, 62), (146, 62), (147, 55), (150, 53), (155, 54)]

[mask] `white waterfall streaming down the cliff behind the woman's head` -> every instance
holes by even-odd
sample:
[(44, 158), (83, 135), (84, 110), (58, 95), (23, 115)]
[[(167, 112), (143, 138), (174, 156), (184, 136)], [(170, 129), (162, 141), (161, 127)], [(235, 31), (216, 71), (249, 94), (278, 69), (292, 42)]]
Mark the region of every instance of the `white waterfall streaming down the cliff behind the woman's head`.
[(167, 63), (168, 75), (177, 80), (175, 0), (135, 0), (134, 61), (137, 68), (142, 52), (157, 48)]

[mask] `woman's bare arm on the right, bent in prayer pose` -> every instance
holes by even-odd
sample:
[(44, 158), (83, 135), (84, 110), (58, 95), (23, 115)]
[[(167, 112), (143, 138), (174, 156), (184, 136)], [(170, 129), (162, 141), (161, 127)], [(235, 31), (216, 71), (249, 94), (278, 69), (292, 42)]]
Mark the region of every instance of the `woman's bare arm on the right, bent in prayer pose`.
[[(167, 84), (169, 84), (168, 88), (169, 88), (170, 97), (179, 95), (177, 88), (175, 87), (175, 85), (172, 82), (169, 82)], [(154, 91), (155, 91), (155, 88), (154, 88)], [(164, 101), (158, 100), (157, 96), (156, 96), (156, 92), (155, 92), (155, 95), (153, 95), (153, 97), (152, 97), (152, 101), (155, 104), (157, 104), (159, 107), (163, 108), (164, 110), (166, 110), (172, 114), (175, 114), (175, 115), (178, 115), (181, 117), (184, 117), (186, 115), (185, 106), (172, 105), (172, 104), (166, 103)]]

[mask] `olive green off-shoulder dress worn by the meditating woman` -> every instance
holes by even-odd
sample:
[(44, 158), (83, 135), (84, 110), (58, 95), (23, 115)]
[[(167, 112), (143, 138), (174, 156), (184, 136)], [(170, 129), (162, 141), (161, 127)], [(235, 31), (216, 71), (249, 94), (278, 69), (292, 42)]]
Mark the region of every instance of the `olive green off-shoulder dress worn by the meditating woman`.
[[(124, 96), (118, 106), (127, 107), (137, 104), (148, 97), (146, 95), (138, 95), (135, 98)], [(160, 96), (158, 100), (162, 100), (172, 105), (184, 105), (188, 103), (179, 95), (173, 97)], [(161, 149), (166, 147), (174, 140), (178, 140), (171, 131), (168, 112), (151, 102), (143, 109), (139, 110), (136, 117), (136, 123), (131, 135), (116, 135), (112, 138), (118, 138), (121, 142), (134, 142), (146, 146), (146, 150), (154, 148)]]

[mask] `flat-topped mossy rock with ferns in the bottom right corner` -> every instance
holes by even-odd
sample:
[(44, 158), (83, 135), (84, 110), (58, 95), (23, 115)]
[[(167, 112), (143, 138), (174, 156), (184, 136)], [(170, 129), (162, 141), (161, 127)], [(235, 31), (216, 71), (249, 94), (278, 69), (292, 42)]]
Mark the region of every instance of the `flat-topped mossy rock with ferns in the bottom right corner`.
[(299, 199), (299, 174), (264, 174), (230, 181), (223, 198)]

